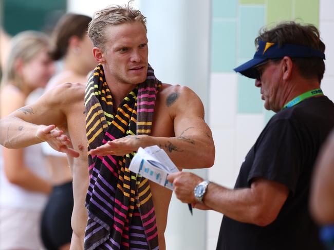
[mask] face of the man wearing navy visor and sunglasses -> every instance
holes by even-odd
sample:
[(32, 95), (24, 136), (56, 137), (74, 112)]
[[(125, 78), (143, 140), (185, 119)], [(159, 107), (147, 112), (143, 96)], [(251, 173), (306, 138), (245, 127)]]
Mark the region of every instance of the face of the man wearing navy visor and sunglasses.
[[(261, 98), (265, 101), (265, 109), (278, 112), (281, 110), (282, 88), (280, 63), (272, 60), (256, 67), (259, 77), (255, 79), (255, 86), (261, 88)], [(282, 86), (281, 86), (282, 87)]]

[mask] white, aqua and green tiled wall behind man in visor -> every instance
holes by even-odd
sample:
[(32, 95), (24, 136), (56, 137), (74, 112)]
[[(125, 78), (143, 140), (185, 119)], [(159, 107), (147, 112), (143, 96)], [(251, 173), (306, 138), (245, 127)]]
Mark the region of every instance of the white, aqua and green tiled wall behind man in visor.
[[(254, 80), (233, 68), (253, 57), (264, 25), (297, 20), (320, 27), (326, 44), (322, 88), (334, 99), (333, 0), (212, 0), (209, 122), (216, 145), (210, 180), (233, 188), (241, 163), (274, 114), (263, 108)], [(215, 249), (222, 215), (208, 212), (207, 249)]]

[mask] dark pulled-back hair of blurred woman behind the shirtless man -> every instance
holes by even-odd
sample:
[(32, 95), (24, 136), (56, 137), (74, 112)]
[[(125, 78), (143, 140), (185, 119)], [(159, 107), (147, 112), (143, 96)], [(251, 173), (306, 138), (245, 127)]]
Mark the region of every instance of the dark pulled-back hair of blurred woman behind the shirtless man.
[(55, 26), (52, 33), (53, 49), (49, 52), (53, 60), (63, 58), (67, 53), (68, 41), (71, 36), (80, 39), (87, 34), (91, 17), (80, 14), (65, 14)]

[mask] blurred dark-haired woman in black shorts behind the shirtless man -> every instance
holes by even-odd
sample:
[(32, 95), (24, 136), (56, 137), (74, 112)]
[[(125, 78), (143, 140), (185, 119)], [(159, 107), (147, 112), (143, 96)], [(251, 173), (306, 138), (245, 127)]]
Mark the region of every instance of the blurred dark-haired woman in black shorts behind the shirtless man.
[[(46, 91), (63, 82), (86, 84), (89, 71), (96, 66), (92, 43), (87, 35), (91, 17), (65, 14), (52, 34), (50, 56), (60, 60), (61, 70), (49, 81)], [(42, 217), (42, 240), (48, 250), (69, 249), (72, 236), (72, 175), (65, 153), (53, 150), (46, 142), (43, 153), (51, 169), (52, 192)]]

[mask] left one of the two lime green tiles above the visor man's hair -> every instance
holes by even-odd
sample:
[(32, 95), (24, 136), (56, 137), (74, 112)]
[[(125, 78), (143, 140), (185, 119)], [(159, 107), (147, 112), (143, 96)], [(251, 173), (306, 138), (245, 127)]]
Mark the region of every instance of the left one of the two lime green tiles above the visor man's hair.
[(292, 0), (267, 0), (267, 24), (292, 20)]

